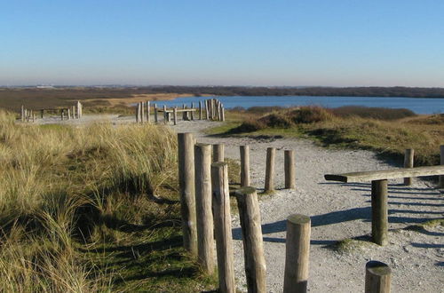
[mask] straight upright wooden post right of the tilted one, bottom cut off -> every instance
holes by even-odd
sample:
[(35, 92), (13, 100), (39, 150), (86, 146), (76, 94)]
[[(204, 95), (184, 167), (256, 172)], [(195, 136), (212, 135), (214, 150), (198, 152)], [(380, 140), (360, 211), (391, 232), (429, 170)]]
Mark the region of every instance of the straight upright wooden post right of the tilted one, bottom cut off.
[(306, 292), (310, 259), (310, 217), (293, 214), (287, 218), (283, 292)]

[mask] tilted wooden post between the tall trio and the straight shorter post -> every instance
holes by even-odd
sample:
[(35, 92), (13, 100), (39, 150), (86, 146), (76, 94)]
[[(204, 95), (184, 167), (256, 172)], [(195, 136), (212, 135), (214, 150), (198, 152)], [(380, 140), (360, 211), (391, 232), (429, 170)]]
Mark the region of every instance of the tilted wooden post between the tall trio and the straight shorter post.
[(242, 187), (235, 192), (242, 227), (245, 275), (249, 292), (266, 292), (266, 258), (256, 189)]

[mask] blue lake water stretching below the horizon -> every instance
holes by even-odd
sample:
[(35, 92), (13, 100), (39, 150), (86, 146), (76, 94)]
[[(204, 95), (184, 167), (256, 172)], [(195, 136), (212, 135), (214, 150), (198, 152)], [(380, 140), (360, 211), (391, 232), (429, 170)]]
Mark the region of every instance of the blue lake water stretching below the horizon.
[[(199, 106), (199, 101), (211, 97), (188, 97), (171, 100), (156, 101), (157, 107), (182, 107), (182, 104), (194, 107)], [(226, 108), (256, 107), (256, 106), (310, 106), (342, 107), (342, 106), (366, 106), (408, 108), (416, 114), (441, 114), (444, 113), (444, 99), (419, 99), (419, 98), (385, 98), (385, 97), (309, 97), (309, 96), (222, 96), (216, 97)]]

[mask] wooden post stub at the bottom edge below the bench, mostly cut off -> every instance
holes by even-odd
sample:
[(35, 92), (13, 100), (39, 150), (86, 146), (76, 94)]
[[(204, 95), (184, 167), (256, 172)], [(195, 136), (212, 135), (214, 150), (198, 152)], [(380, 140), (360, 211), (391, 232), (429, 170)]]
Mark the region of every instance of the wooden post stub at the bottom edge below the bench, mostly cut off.
[(365, 293), (390, 293), (392, 270), (385, 263), (369, 261), (365, 265)]

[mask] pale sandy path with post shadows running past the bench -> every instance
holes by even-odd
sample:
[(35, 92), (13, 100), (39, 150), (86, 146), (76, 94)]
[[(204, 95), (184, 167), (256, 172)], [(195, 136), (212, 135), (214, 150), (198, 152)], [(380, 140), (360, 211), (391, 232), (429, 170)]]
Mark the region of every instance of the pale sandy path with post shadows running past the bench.
[[(88, 123), (110, 120), (133, 122), (133, 117), (117, 115), (85, 116)], [(43, 123), (51, 123), (44, 121)], [(52, 122), (53, 123), (53, 122)], [(216, 125), (208, 122), (179, 122), (171, 126), (178, 132), (194, 132), (199, 142), (223, 143), (226, 157), (239, 160), (239, 146), (250, 145), (252, 185), (263, 188), (266, 147), (276, 147), (278, 191), (262, 196), (260, 210), (267, 265), (267, 291), (281, 292), (285, 261), (285, 220), (293, 213), (312, 219), (310, 277), (312, 292), (363, 292), (365, 264), (379, 260), (392, 267), (392, 292), (444, 292), (444, 228), (420, 232), (403, 229), (427, 219), (443, 218), (444, 194), (432, 183), (414, 179), (413, 186), (400, 180), (389, 185), (389, 245), (379, 247), (366, 242), (351, 251), (339, 252), (331, 244), (368, 235), (370, 222), (370, 185), (325, 181), (326, 173), (358, 170), (384, 170), (393, 165), (382, 162), (369, 151), (332, 150), (316, 147), (305, 139), (214, 138), (202, 130)], [(283, 188), (283, 149), (296, 151), (297, 189)], [(234, 264), (238, 288), (246, 290), (239, 218), (233, 217)]]

